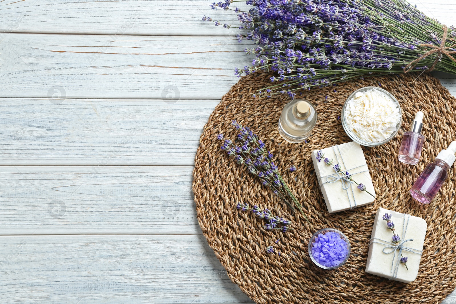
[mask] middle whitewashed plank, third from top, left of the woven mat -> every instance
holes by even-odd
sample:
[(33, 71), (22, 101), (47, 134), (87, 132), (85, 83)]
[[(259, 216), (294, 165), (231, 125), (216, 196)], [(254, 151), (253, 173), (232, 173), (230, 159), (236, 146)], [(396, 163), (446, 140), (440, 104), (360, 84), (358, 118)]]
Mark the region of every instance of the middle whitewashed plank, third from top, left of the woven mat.
[(0, 165), (193, 165), (219, 101), (52, 102), (0, 99)]

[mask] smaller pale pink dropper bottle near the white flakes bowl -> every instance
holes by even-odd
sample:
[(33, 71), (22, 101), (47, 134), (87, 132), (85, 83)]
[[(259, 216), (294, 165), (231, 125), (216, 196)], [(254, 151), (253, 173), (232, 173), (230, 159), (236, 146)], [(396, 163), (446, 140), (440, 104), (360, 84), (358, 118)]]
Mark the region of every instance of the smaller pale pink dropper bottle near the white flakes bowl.
[(418, 160), (420, 160), (421, 149), (423, 149), (425, 142), (425, 137), (421, 134), (423, 116), (423, 112), (417, 112), (415, 119), (410, 124), (410, 130), (404, 133), (398, 158), (405, 164), (416, 165)]

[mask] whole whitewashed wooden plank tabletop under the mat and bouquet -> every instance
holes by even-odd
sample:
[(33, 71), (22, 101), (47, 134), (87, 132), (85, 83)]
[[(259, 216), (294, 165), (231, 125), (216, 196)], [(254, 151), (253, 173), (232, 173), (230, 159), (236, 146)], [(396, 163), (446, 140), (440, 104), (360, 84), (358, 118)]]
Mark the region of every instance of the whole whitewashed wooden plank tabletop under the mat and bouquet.
[[(415, 2), (454, 23), (456, 0)], [(192, 198), (202, 126), (251, 61), (209, 4), (0, 1), (0, 303), (252, 303)]]

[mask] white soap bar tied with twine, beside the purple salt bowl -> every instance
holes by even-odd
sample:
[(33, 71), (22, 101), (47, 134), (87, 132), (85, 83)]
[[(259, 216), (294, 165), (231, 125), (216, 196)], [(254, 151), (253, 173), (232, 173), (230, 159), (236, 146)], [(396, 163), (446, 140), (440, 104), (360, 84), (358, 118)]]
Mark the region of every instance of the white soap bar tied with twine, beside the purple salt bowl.
[[(385, 213), (391, 216), (389, 221), (394, 224), (394, 231), (388, 228), (392, 225), (388, 224), (388, 217), (384, 219)], [(378, 208), (366, 272), (404, 283), (414, 281), (420, 267), (426, 228), (426, 222), (421, 217)], [(396, 242), (393, 241), (394, 234), (398, 236)], [(405, 257), (406, 264), (401, 262), (401, 258)]]

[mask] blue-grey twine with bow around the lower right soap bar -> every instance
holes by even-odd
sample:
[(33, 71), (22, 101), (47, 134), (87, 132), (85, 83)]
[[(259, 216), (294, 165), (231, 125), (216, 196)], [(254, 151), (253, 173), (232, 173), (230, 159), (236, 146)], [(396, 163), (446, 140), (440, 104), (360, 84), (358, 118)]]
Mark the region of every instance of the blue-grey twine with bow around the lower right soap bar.
[[(410, 219), (410, 216), (408, 214), (406, 214), (404, 216), (404, 222), (402, 222), (401, 240), (405, 237), (405, 232), (407, 232), (407, 227), (409, 226), (409, 219)], [(411, 252), (411, 253), (415, 253), (415, 254), (419, 254), (419, 255), (423, 254), (422, 250), (416, 250), (416, 249), (404, 246), (405, 242), (411, 242), (411, 241), (413, 241), (413, 238), (409, 238), (400, 243), (394, 244), (394, 243), (379, 239), (378, 237), (373, 237), (370, 241), (371, 243), (377, 243), (380, 245), (384, 245), (385, 247), (383, 247), (382, 252), (385, 254), (390, 254), (390, 253), (394, 252), (393, 261), (391, 262), (391, 273), (393, 274), (393, 278), (397, 278), (398, 271), (399, 271), (400, 256), (402, 254), (402, 251), (407, 251), (407, 252)], [(396, 259), (396, 255), (397, 255), (397, 259)], [(396, 260), (396, 263), (394, 263), (394, 260)]]

